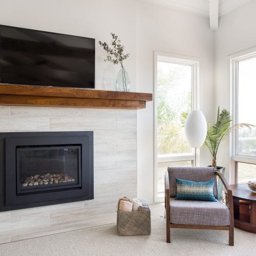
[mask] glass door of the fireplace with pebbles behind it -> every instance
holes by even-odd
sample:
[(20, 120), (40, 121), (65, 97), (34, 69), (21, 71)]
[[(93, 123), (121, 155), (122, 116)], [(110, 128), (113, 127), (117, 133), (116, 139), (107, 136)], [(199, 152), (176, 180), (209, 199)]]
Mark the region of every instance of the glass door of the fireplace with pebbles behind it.
[(81, 185), (81, 146), (17, 146), (17, 194)]

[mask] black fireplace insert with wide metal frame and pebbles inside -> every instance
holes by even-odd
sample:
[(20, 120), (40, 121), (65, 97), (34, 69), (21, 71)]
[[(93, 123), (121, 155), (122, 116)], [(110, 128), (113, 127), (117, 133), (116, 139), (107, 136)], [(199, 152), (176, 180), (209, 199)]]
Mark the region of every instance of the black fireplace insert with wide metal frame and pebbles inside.
[(0, 133), (1, 210), (93, 199), (93, 132)]

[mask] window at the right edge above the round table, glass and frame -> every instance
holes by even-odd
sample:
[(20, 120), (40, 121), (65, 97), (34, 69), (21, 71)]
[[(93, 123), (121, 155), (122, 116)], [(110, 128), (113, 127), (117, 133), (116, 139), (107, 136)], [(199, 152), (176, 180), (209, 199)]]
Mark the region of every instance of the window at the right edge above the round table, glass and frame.
[[(256, 49), (255, 49), (256, 50)], [(233, 124), (256, 124), (256, 52), (230, 59)], [(232, 135), (232, 183), (256, 179), (256, 127), (239, 129)], [(234, 170), (234, 172), (233, 172)]]

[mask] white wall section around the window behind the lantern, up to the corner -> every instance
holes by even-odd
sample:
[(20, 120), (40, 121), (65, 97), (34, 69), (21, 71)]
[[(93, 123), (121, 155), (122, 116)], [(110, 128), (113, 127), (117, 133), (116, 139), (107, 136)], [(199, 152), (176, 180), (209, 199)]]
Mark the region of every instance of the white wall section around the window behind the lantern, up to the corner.
[[(213, 32), (207, 18), (157, 5), (137, 4), (137, 72), (139, 92), (153, 93), (153, 52), (166, 52), (200, 59), (200, 105), (207, 120), (212, 118)], [(137, 112), (138, 195), (153, 202), (154, 197), (154, 103)], [(201, 165), (211, 163), (201, 150)]]

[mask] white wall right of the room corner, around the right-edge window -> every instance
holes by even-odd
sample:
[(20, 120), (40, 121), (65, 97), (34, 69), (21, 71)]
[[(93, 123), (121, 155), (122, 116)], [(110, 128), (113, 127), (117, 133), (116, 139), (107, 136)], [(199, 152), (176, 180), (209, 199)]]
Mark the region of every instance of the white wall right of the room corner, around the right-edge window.
[[(218, 105), (221, 109), (230, 110), (228, 56), (256, 47), (255, 10), (256, 1), (250, 1), (219, 19), (219, 29), (215, 32), (215, 115)], [(217, 164), (226, 166), (228, 171), (228, 138), (219, 148)]]

